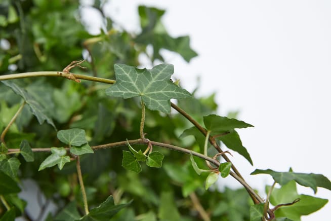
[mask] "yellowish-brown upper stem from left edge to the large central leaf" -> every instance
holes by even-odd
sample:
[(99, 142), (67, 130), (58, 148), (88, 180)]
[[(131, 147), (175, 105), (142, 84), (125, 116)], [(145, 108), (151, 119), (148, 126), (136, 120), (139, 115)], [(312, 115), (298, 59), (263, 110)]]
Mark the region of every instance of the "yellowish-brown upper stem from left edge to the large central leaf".
[(31, 77), (63, 77), (71, 79), (70, 77), (74, 76), (76, 79), (95, 81), (106, 84), (115, 84), (116, 81), (104, 78), (97, 78), (87, 75), (79, 75), (77, 73), (63, 72), (63, 71), (34, 71), (34, 72), (25, 72), (25, 73), (13, 73), (11, 75), (2, 75), (0, 76), (0, 81), (19, 79), (19, 78), (31, 78)]

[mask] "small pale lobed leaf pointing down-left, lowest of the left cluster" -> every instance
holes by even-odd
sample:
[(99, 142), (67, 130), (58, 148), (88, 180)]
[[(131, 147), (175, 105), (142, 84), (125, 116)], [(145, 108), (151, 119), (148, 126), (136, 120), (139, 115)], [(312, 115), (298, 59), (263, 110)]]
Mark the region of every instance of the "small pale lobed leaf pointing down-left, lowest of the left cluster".
[(66, 156), (67, 151), (64, 148), (51, 148), (51, 152), (52, 154), (40, 164), (38, 171), (55, 166), (56, 164), (62, 170), (64, 164), (70, 162), (70, 157)]

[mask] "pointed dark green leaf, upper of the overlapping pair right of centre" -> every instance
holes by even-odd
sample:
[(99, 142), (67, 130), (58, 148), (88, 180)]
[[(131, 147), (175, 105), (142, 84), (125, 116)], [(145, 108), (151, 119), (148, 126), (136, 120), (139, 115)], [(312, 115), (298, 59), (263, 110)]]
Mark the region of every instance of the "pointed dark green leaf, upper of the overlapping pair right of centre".
[(221, 117), (218, 115), (208, 115), (203, 117), (203, 123), (206, 129), (211, 131), (212, 135), (221, 134), (235, 128), (254, 127), (253, 125), (247, 124), (243, 121)]

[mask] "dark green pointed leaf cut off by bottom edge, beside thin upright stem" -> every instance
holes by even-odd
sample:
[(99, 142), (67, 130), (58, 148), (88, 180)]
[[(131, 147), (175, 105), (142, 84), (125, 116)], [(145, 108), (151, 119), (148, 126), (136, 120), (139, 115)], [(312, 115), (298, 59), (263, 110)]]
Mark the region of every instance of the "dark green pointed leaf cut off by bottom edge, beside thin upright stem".
[[(129, 152), (130, 153), (130, 152)], [(112, 196), (108, 197), (106, 201), (101, 203), (98, 207), (93, 208), (90, 210), (90, 213), (83, 216), (79, 220), (84, 221), (108, 221), (113, 217), (120, 209), (127, 207), (131, 204), (132, 201), (125, 203), (125, 204), (119, 204), (115, 205), (114, 200)]]

